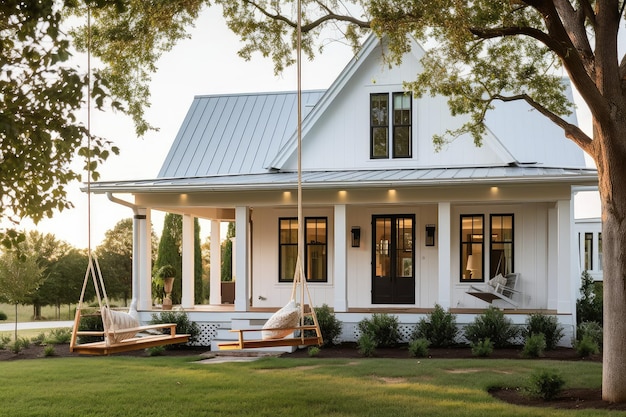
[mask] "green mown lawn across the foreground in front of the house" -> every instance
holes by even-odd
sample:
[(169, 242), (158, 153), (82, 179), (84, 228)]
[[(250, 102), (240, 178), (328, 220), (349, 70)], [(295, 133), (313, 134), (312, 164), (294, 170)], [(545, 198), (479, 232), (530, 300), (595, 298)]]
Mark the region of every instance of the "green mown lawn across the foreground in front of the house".
[(599, 387), (601, 364), (529, 360), (290, 359), (199, 364), (190, 357), (0, 362), (10, 416), (622, 416), (509, 405), (487, 389), (537, 368)]

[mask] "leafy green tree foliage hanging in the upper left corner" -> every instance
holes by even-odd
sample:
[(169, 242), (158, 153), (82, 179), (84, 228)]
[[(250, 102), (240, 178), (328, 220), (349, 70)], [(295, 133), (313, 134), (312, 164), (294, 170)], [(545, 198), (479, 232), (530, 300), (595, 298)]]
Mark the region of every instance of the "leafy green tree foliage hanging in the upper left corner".
[(98, 178), (97, 167), (118, 149), (91, 138), (79, 113), (87, 85), (98, 107), (108, 96), (98, 72), (91, 77), (70, 63), (71, 39), (63, 32), (58, 1), (7, 0), (0, 4), (0, 242), (13, 246), (24, 236), (11, 224), (35, 223), (72, 207), (67, 185), (81, 178), (72, 167)]

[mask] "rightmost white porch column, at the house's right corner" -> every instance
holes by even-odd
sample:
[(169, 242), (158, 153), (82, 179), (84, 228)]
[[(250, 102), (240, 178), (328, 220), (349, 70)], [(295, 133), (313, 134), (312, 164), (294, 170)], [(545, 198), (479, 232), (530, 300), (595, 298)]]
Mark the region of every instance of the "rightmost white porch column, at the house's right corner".
[[(557, 201), (557, 211), (559, 216), (559, 253), (558, 280), (559, 280), (559, 313), (576, 314), (576, 297), (572, 288), (572, 214), (573, 207), (571, 200)], [(575, 322), (574, 322), (575, 323)]]

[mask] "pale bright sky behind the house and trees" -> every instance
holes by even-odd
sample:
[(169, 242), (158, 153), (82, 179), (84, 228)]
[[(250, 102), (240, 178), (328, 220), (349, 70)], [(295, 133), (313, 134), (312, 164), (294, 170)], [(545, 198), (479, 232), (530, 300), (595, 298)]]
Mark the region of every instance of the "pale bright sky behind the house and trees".
[[(226, 27), (221, 8), (205, 9), (189, 33), (191, 39), (179, 42), (172, 51), (166, 53), (159, 61), (159, 70), (152, 77), (152, 106), (147, 109), (146, 117), (159, 128), (158, 131), (137, 138), (131, 120), (123, 114), (91, 112), (92, 133), (113, 141), (121, 151), (119, 156), (111, 156), (101, 167), (100, 180), (156, 178), (196, 95), (296, 90), (295, 66), (276, 76), (271, 59), (256, 55), (247, 62), (237, 55), (241, 43)], [(351, 56), (349, 46), (329, 40), (323, 54), (318, 55), (313, 62), (303, 63), (303, 88), (328, 88)], [(87, 66), (86, 61), (79, 64), (85, 68)], [(579, 123), (587, 127), (590, 125), (588, 112), (580, 107)], [(69, 198), (74, 209), (58, 213), (37, 226), (24, 221), (21, 228), (36, 228), (42, 233), (52, 233), (57, 239), (78, 248), (95, 248), (107, 230), (112, 229), (118, 221), (132, 217), (131, 209), (110, 202), (103, 195), (93, 195), (88, 209), (87, 194), (80, 191), (81, 186), (80, 183), (73, 183), (69, 187)], [(599, 215), (596, 193), (585, 193), (577, 199), (576, 217)], [(152, 212), (153, 228), (157, 235), (160, 235), (163, 227), (163, 216), (163, 213)], [(209, 227), (208, 222), (201, 222), (203, 237), (208, 235)]]

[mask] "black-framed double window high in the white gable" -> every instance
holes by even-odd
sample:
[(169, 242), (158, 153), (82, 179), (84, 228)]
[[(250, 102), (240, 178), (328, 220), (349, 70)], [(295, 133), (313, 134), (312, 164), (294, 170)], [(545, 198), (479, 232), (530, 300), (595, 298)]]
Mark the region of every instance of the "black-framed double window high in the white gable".
[(392, 157), (411, 158), (411, 93), (392, 93), (391, 106), (389, 98), (389, 93), (370, 95), (370, 158), (389, 158), (390, 119)]

